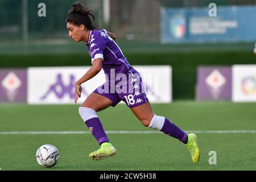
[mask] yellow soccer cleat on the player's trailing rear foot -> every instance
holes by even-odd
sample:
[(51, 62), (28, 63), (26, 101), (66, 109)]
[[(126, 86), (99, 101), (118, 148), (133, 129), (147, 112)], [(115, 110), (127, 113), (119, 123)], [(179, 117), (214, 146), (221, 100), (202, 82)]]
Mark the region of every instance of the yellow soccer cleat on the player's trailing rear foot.
[(200, 150), (197, 144), (197, 136), (194, 133), (188, 134), (188, 143), (186, 144), (191, 153), (193, 163), (198, 163), (200, 159)]

